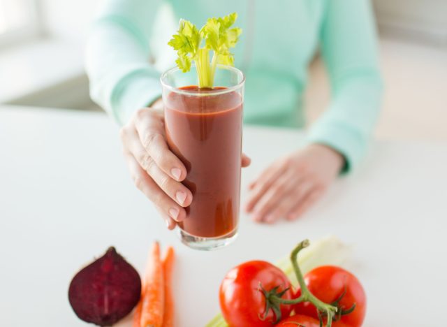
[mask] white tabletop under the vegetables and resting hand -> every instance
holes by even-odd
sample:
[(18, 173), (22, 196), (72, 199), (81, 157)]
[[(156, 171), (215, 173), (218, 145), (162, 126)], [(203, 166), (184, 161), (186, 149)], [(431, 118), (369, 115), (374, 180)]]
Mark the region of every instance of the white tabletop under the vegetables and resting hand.
[[(245, 127), (247, 182), (302, 133)], [(91, 112), (0, 108), (0, 326), (85, 326), (68, 283), (110, 245), (140, 272), (154, 240), (172, 244), (177, 321), (203, 326), (219, 310), (228, 269), (275, 261), (304, 238), (334, 234), (355, 246), (349, 268), (365, 286), (365, 326), (440, 326), (447, 291), (447, 142), (376, 142), (355, 174), (293, 223), (242, 215), (226, 249), (198, 252), (166, 230), (131, 182), (117, 126)], [(442, 322), (441, 322), (442, 321)]]

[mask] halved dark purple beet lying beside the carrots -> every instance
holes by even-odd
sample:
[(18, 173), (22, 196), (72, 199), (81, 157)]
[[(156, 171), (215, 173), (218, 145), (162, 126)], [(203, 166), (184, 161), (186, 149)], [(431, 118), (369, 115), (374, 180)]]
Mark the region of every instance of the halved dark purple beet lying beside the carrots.
[(80, 270), (68, 289), (75, 314), (98, 326), (110, 326), (124, 318), (137, 305), (140, 295), (140, 276), (115, 247)]

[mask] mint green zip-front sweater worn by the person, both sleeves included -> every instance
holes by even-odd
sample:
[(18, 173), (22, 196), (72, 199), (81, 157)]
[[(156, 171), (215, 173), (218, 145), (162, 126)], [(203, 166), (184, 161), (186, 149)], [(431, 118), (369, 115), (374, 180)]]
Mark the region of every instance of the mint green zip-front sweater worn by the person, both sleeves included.
[[(367, 0), (171, 0), (177, 19), (202, 26), (238, 13), (243, 30), (235, 66), (246, 75), (244, 122), (302, 127), (309, 61), (321, 51), (331, 85), (325, 113), (307, 142), (329, 145), (346, 170), (365, 154), (379, 113), (382, 82)], [(149, 64), (149, 38), (163, 1), (106, 0), (87, 43), (91, 98), (120, 124), (159, 98), (160, 71)], [(168, 39), (166, 39), (168, 42)], [(174, 51), (174, 50), (172, 50)], [(174, 62), (173, 62), (174, 66)]]

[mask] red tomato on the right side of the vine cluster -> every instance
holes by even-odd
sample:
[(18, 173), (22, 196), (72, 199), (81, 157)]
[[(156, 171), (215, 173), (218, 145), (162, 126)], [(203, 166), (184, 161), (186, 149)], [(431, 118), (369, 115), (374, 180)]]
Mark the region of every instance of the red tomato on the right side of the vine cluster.
[[(342, 315), (339, 324), (362, 326), (366, 313), (366, 296), (356, 276), (339, 267), (321, 266), (307, 273), (305, 282), (309, 291), (325, 303), (334, 303), (346, 291), (337, 304), (339, 310), (349, 310), (354, 303), (356, 307), (353, 312)], [(301, 290), (298, 290), (295, 297), (300, 294)], [(316, 307), (312, 303), (298, 303), (293, 309), (296, 314), (305, 314), (318, 319)]]

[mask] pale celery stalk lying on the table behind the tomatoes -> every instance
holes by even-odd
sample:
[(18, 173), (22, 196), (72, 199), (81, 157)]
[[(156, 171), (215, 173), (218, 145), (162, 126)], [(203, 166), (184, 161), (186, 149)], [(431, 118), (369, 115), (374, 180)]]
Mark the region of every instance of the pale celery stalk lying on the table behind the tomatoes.
[[(298, 256), (298, 264), (302, 273), (308, 273), (318, 266), (340, 266), (351, 256), (351, 247), (335, 236), (328, 236), (310, 242), (309, 247), (302, 249)], [(286, 273), (293, 286), (298, 285), (289, 256), (279, 259), (275, 265)], [(228, 327), (222, 315), (217, 314), (206, 327)]]

